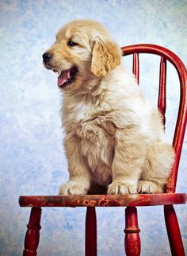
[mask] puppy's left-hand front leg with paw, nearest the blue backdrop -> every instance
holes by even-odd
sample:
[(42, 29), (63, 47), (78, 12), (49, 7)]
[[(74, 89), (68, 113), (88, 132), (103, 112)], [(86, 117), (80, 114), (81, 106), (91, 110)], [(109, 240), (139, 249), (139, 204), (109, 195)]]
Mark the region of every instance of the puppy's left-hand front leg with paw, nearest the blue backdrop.
[(70, 134), (67, 135), (64, 146), (70, 177), (67, 183), (59, 188), (59, 195), (86, 194), (90, 188), (90, 170), (82, 159), (77, 138)]

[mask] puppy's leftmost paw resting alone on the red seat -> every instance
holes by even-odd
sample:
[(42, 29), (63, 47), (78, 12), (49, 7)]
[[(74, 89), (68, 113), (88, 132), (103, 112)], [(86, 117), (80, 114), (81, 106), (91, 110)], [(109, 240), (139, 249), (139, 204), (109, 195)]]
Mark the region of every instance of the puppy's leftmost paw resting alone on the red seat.
[(67, 195), (85, 195), (87, 193), (87, 189), (84, 188), (82, 185), (76, 182), (67, 182), (63, 184), (59, 188), (59, 196), (67, 196)]

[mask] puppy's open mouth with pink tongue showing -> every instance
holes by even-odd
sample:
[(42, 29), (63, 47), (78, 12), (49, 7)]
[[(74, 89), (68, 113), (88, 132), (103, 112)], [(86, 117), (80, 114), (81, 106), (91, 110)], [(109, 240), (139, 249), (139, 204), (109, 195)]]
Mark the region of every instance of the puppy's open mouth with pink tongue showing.
[(58, 86), (61, 88), (66, 87), (68, 84), (70, 84), (74, 80), (77, 72), (78, 72), (77, 67), (60, 72), (58, 76), (58, 82), (57, 82)]

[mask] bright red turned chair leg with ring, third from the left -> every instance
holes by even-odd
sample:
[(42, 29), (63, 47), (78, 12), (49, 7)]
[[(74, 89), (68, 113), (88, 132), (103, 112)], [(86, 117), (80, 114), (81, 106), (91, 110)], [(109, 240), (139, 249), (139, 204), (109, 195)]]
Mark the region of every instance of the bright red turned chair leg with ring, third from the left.
[(127, 256), (139, 256), (141, 251), (141, 242), (139, 238), (138, 216), (135, 207), (125, 209), (125, 238), (124, 250)]

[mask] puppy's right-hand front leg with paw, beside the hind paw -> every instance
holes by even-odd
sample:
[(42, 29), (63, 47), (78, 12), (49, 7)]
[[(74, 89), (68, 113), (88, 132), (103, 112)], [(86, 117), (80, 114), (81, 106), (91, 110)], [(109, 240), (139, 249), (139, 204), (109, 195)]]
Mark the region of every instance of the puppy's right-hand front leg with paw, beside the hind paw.
[(108, 194), (136, 193), (141, 166), (146, 154), (145, 138), (137, 128), (117, 130), (112, 165), (113, 182)]

